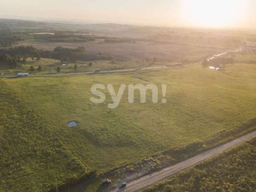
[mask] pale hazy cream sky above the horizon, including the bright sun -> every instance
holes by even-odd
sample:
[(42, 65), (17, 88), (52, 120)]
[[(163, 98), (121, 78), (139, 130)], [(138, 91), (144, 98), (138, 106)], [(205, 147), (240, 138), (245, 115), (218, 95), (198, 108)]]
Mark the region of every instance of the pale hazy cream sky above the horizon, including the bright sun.
[(256, 0), (1, 0), (1, 18), (256, 28)]

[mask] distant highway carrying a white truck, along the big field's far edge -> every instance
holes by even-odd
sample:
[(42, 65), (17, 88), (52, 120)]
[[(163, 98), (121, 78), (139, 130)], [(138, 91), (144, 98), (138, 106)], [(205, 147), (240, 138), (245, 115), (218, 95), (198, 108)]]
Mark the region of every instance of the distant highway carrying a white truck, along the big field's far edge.
[[(80, 72), (80, 73), (54, 73), (54, 74), (40, 74), (40, 75), (29, 75), (29, 77), (45, 77), (45, 76), (66, 76), (66, 75), (88, 75), (88, 74), (106, 74), (106, 73), (116, 73), (116, 72), (129, 72), (129, 71), (141, 71), (141, 70), (152, 70), (152, 69), (168, 69), (171, 66), (167, 67), (148, 67), (148, 68), (131, 68), (131, 69), (120, 69), (120, 70), (107, 70), (107, 71), (100, 71), (98, 73), (94, 72)], [(17, 77), (16, 75), (10, 76), (0, 76), (0, 78), (10, 78), (10, 77)]]

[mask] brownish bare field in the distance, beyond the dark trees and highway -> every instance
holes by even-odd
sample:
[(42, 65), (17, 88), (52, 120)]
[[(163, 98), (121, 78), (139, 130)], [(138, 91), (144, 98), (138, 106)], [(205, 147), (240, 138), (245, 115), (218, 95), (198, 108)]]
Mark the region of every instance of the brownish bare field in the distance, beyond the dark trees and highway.
[(183, 58), (202, 58), (208, 54), (219, 54), (225, 51), (224, 48), (215, 48), (209, 46), (192, 46), (188, 44), (135, 44), (135, 43), (59, 43), (59, 42), (33, 42), (22, 41), (18, 44), (24, 46), (34, 46), (44, 50), (54, 50), (57, 46), (66, 48), (85, 47), (86, 52), (98, 54), (99, 51), (106, 55), (112, 55), (119, 58), (144, 59), (153, 57), (158, 60), (176, 60)]

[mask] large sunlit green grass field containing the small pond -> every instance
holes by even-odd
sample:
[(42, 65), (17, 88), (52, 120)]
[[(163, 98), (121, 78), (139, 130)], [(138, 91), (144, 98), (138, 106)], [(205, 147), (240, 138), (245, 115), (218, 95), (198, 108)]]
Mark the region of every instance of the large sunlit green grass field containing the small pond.
[[(200, 65), (133, 74), (8, 78), (4, 81), (42, 117), (64, 143), (91, 168), (104, 172), (160, 150), (208, 140), (222, 130), (255, 118), (256, 66), (227, 65), (214, 71)], [(127, 89), (116, 109), (110, 94), (102, 104), (90, 102), (93, 84), (167, 84), (167, 103), (128, 103)], [(162, 98), (159, 90), (159, 100)], [(71, 120), (79, 122), (70, 128)]]

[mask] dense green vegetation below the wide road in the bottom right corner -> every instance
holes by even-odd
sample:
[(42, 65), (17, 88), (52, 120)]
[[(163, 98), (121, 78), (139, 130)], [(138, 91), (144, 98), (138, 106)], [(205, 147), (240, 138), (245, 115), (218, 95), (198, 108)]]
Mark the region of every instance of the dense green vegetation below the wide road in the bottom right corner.
[(254, 192), (256, 138), (182, 171), (143, 192)]

